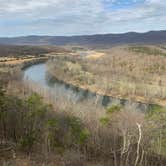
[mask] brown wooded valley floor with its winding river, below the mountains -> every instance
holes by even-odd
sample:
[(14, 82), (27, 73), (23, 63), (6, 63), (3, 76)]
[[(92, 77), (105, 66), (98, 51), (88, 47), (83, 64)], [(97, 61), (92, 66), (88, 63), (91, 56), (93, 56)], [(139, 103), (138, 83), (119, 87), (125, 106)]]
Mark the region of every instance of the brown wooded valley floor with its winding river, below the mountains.
[(163, 55), (164, 45), (124, 45), (1, 56), (0, 163), (164, 163)]

